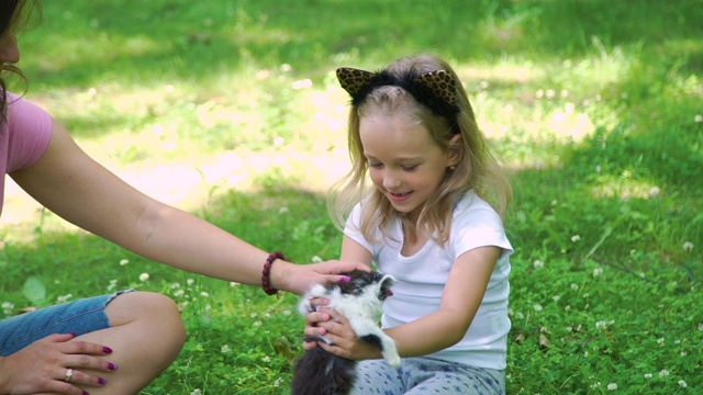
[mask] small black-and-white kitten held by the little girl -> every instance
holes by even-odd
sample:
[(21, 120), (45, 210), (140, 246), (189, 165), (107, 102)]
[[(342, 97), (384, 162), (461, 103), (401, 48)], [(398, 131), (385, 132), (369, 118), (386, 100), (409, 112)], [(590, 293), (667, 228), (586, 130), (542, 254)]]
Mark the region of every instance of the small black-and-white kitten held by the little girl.
[[(378, 347), (393, 368), (400, 366), (395, 342), (378, 327), (378, 315), (395, 279), (379, 272), (355, 270), (346, 273), (349, 282), (331, 286), (315, 285), (300, 302), (299, 311), (306, 315), (315, 311), (310, 296), (330, 300), (328, 307), (344, 315), (359, 339)], [(321, 340), (330, 343), (324, 337)], [(305, 352), (295, 363), (291, 395), (345, 395), (356, 377), (356, 361), (333, 356), (321, 347)]]

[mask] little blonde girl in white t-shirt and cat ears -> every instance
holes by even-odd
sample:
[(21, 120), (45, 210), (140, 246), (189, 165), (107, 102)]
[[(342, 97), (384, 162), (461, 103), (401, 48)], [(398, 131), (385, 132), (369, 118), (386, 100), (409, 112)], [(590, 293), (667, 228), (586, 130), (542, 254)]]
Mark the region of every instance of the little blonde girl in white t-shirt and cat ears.
[(501, 217), (511, 189), (466, 91), (428, 55), (379, 72), (342, 68), (337, 78), (352, 95), (352, 170), (328, 202), (344, 226), (341, 259), (399, 280), (381, 324), (402, 366), (324, 308), (309, 314), (305, 335), (333, 345), (305, 348), (362, 360), (355, 394), (503, 394), (512, 247)]

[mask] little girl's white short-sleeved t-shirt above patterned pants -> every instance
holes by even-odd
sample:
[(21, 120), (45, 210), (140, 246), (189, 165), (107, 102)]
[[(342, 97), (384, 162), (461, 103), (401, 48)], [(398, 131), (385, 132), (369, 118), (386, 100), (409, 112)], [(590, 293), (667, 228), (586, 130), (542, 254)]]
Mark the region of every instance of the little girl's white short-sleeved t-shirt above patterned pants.
[(400, 222), (393, 224), (391, 229), (392, 238), (400, 241), (384, 240), (380, 230), (375, 238), (382, 241), (376, 245), (364, 238), (358, 226), (354, 225), (359, 224), (361, 204), (352, 211), (344, 233), (372, 253), (381, 272), (392, 274), (399, 281), (393, 285), (393, 296), (383, 303), (383, 328), (408, 324), (438, 311), (449, 271), (464, 252), (484, 246), (502, 249), (483, 301), (464, 339), (426, 357), (478, 368), (505, 369), (507, 332), (511, 328), (507, 317), (509, 257), (513, 248), (498, 213), (486, 201), (469, 192), (454, 210), (451, 232), (445, 246), (428, 240), (417, 253), (404, 257), (400, 252), (403, 240)]

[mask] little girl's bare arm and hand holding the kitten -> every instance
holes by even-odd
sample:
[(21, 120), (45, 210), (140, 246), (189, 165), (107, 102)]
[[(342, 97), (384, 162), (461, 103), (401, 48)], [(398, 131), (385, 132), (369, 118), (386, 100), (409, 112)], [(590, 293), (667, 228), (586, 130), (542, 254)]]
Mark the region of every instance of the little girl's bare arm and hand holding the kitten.
[[(412, 323), (386, 329), (386, 334), (395, 340), (402, 357), (428, 354), (461, 340), (481, 305), (500, 252), (498, 247), (481, 247), (459, 256), (449, 274), (439, 309)], [(332, 311), (326, 313), (337, 323), (328, 320), (317, 325), (324, 328), (325, 337), (334, 346), (319, 346), (352, 360), (381, 358), (378, 349), (356, 338), (343, 316)]]

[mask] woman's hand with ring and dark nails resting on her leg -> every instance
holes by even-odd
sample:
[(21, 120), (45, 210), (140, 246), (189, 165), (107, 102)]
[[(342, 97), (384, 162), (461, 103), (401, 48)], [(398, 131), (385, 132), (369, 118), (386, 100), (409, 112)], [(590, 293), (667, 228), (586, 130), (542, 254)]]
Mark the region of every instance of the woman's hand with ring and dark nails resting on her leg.
[(104, 379), (86, 370), (116, 370), (114, 364), (100, 358), (112, 350), (87, 341), (69, 341), (74, 337), (72, 334), (51, 335), (0, 358), (0, 393), (82, 395), (87, 392), (77, 385), (105, 385)]

